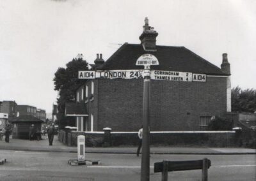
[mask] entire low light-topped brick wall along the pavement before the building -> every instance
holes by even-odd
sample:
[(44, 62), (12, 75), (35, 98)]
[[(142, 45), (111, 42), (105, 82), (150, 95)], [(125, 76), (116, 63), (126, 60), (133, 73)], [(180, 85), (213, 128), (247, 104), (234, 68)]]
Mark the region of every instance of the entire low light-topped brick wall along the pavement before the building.
[[(63, 133), (64, 134), (64, 133)], [(112, 132), (106, 139), (104, 132), (68, 133), (66, 144), (77, 145), (77, 136), (85, 136), (86, 147), (118, 147), (138, 145), (137, 132)], [(108, 135), (109, 136), (109, 135)], [(65, 136), (62, 136), (65, 137)], [(61, 136), (59, 140), (61, 141)], [(200, 147), (234, 147), (237, 145), (236, 131), (164, 131), (151, 132), (150, 145), (200, 146)], [(106, 140), (110, 143), (106, 144)]]

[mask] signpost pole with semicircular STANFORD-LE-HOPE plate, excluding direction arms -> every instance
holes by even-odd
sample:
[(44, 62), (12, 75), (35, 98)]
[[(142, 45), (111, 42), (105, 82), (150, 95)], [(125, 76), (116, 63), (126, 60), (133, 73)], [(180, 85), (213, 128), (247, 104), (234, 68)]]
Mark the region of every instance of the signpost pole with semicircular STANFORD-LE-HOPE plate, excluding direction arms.
[(141, 181), (149, 180), (149, 107), (150, 107), (150, 66), (159, 65), (157, 58), (151, 54), (141, 55), (136, 61), (136, 66), (144, 66), (143, 88), (143, 134), (142, 134), (142, 157), (141, 157)]

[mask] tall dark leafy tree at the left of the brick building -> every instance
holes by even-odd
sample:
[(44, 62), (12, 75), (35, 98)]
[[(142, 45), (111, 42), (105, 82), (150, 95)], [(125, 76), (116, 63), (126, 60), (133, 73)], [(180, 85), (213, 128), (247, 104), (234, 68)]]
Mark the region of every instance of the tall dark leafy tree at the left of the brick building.
[(54, 91), (58, 91), (59, 94), (56, 121), (60, 128), (67, 125), (73, 126), (75, 123), (74, 118), (65, 117), (65, 103), (75, 101), (76, 89), (84, 83), (84, 80), (78, 79), (79, 70), (88, 70), (88, 62), (83, 59), (83, 54), (78, 54), (66, 64), (66, 68), (58, 68), (54, 74)]

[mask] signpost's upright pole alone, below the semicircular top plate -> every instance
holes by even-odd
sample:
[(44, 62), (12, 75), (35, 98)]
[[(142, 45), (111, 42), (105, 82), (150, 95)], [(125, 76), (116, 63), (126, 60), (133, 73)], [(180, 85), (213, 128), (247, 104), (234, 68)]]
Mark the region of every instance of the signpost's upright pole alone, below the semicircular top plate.
[(141, 157), (141, 181), (149, 180), (149, 105), (150, 105), (150, 66), (145, 66), (143, 89), (143, 134)]

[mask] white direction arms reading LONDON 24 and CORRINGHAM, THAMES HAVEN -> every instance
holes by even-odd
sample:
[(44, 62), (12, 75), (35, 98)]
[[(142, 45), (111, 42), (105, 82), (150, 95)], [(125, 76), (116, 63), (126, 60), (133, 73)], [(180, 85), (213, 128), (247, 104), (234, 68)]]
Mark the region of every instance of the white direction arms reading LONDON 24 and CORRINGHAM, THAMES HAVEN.
[[(133, 79), (143, 78), (143, 69), (136, 70), (108, 70), (108, 71), (79, 71), (79, 79), (95, 79), (95, 78), (120, 78)], [(183, 82), (206, 82), (205, 74), (180, 72), (180, 71), (161, 71), (150, 70), (150, 78), (153, 80), (170, 80)]]

